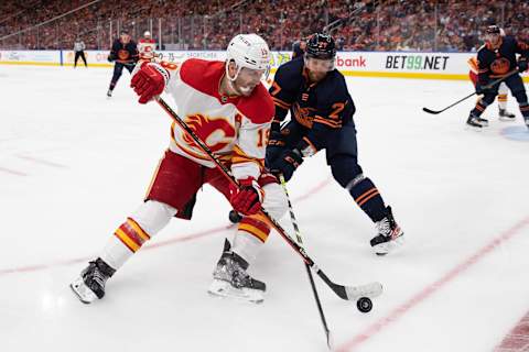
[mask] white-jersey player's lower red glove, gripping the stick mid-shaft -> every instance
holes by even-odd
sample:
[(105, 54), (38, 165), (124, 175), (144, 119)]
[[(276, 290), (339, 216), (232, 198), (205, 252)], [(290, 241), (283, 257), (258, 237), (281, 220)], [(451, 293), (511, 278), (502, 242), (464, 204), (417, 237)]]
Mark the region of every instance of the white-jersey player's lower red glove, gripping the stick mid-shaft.
[(261, 210), (262, 190), (253, 177), (239, 179), (239, 187), (229, 185), (229, 202), (237, 212), (252, 216)]

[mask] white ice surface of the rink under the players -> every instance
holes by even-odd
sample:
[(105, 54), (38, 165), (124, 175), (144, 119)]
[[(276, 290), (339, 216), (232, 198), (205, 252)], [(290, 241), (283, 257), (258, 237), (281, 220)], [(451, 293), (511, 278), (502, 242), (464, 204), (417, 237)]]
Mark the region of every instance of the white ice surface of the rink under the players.
[[(170, 119), (136, 102), (128, 73), (106, 99), (110, 76), (0, 66), (0, 351), (325, 351), (305, 270), (277, 234), (251, 267), (268, 285), (262, 305), (206, 294), (230, 235), (209, 231), (227, 224), (229, 207), (208, 186), (193, 221), (171, 221), (151, 243), (159, 246), (108, 283), (105, 299), (85, 306), (74, 297), (68, 283), (141, 202), (169, 141)], [(490, 351), (529, 309), (529, 133), (515, 100), (516, 122), (498, 121), (494, 106), (490, 128), (476, 133), (464, 127), (474, 99), (439, 116), (421, 111), (465, 96), (468, 82), (348, 85), (360, 165), (407, 243), (386, 257), (371, 253), (373, 224), (332, 180), (324, 155), (289, 184), (306, 250), (326, 274), (385, 286), (363, 315), (316, 278), (336, 346)]]

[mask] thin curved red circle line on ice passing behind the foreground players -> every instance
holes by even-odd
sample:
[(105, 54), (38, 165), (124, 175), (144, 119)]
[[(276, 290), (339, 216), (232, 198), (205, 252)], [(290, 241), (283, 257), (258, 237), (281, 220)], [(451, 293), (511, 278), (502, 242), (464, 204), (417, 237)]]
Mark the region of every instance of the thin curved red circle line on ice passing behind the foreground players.
[[(327, 178), (327, 179), (321, 182), (320, 184), (314, 186), (312, 189), (310, 189), (304, 195), (301, 195), (300, 197), (295, 198), (294, 201), (303, 201), (303, 200), (310, 198), (314, 194), (322, 190), (330, 183), (331, 183), (331, 178)], [(208, 229), (208, 230), (204, 230), (204, 231), (199, 231), (199, 232), (194, 232), (194, 233), (181, 235), (181, 237), (177, 237), (177, 238), (174, 238), (174, 239), (158, 241), (155, 243), (145, 245), (145, 248), (142, 249), (142, 251), (149, 251), (149, 250), (153, 250), (153, 249), (165, 246), (165, 245), (171, 245), (171, 244), (179, 243), (179, 242), (198, 240), (198, 239), (202, 239), (202, 238), (215, 234), (215, 233), (225, 232), (228, 229), (229, 229), (229, 227), (223, 226), (223, 227), (218, 227), (218, 228), (213, 228), (213, 229)], [(78, 257), (78, 258), (66, 260), (66, 261), (50, 262), (47, 264), (36, 264), (36, 265), (19, 266), (19, 267), (12, 267), (12, 268), (3, 268), (3, 270), (0, 270), (0, 276), (7, 275), (7, 274), (15, 274), (15, 273), (21, 274), (21, 273), (29, 273), (29, 272), (37, 272), (37, 271), (43, 271), (43, 270), (47, 270), (47, 268), (52, 268), (52, 267), (56, 267), (56, 266), (65, 266), (65, 265), (77, 264), (77, 263), (80, 263), (80, 262), (87, 262), (88, 260), (89, 260), (89, 257)]]

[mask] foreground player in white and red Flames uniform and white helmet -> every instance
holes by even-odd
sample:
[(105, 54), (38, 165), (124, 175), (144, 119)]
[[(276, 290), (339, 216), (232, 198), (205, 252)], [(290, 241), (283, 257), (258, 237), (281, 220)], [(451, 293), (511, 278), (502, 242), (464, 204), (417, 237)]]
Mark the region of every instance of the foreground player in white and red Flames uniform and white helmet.
[(195, 194), (208, 183), (245, 215), (214, 271), (209, 293), (262, 301), (264, 283), (247, 270), (267, 240), (270, 227), (261, 207), (274, 219), (287, 211), (287, 199), (274, 176), (264, 172), (264, 148), (274, 113), (261, 79), (270, 52), (257, 34), (239, 34), (226, 62), (191, 58), (181, 66), (143, 62), (131, 87), (147, 103), (163, 90), (174, 98), (179, 114), (230, 167), (239, 187), (229, 182), (206, 153), (175, 123), (144, 202), (110, 237), (71, 287), (83, 302), (105, 295), (105, 284), (125, 262), (173, 218), (191, 219)]

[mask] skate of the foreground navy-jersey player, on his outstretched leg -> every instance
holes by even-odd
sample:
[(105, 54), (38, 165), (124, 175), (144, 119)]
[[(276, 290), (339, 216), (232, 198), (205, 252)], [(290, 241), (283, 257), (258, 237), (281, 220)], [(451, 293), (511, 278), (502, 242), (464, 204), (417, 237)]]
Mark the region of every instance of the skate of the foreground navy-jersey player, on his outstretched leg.
[(370, 241), (371, 248), (377, 255), (386, 255), (403, 243), (404, 232), (395, 221), (391, 207), (386, 209), (388, 215), (375, 223), (378, 234)]

